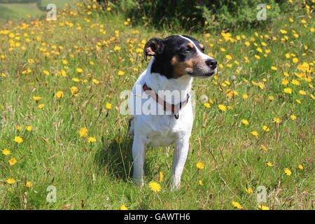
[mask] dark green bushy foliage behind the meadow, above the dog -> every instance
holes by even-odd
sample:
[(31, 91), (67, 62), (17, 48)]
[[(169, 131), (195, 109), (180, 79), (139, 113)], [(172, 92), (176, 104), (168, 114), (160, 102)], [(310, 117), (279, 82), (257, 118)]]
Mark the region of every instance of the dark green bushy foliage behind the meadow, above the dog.
[(257, 8), (259, 2), (255, 0), (113, 0), (110, 3), (123, 11), (127, 18), (140, 24), (144, 23), (142, 17), (145, 16), (154, 27), (181, 27), (186, 30), (200, 29), (205, 22), (213, 29), (266, 25), (285, 11), (283, 7), (281, 12), (280, 6), (286, 4), (282, 0), (264, 1), (271, 8), (267, 9), (267, 20), (258, 21), (256, 15), (260, 8)]

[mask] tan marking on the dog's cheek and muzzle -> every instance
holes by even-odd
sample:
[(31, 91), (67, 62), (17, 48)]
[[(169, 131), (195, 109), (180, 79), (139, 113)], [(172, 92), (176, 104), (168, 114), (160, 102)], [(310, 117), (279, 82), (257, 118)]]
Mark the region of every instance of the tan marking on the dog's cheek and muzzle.
[(174, 78), (185, 76), (187, 71), (193, 72), (194, 67), (202, 67), (205, 65), (201, 57), (194, 57), (187, 61), (179, 62), (176, 56), (172, 58), (171, 64), (174, 67)]

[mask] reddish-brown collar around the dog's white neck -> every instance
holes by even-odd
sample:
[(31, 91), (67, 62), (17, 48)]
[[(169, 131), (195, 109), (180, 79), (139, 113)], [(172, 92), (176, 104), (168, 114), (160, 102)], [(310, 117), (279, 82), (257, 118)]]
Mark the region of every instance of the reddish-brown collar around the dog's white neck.
[(164, 111), (172, 111), (174, 113), (174, 116), (176, 119), (179, 119), (179, 111), (186, 106), (186, 104), (188, 103), (188, 99), (190, 97), (189, 94), (187, 94), (186, 100), (183, 102), (180, 102), (179, 104), (169, 104), (167, 102), (165, 102), (165, 100), (161, 99), (157, 93), (155, 93), (151, 87), (148, 87), (148, 85), (146, 85), (146, 83), (144, 83), (143, 86), (144, 91), (148, 91), (148, 94), (151, 95), (151, 97), (153, 97), (153, 99), (155, 99), (156, 102), (158, 102), (158, 104), (161, 104), (163, 106), (163, 110)]

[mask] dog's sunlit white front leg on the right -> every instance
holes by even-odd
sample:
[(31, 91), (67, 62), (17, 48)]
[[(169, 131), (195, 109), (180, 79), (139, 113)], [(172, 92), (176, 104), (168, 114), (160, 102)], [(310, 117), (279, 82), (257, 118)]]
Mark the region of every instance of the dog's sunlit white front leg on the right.
[(173, 155), (173, 167), (172, 167), (172, 178), (171, 184), (172, 189), (179, 189), (181, 183), (181, 173), (186, 162), (187, 154), (189, 149), (189, 137), (180, 139), (175, 144), (175, 150)]

